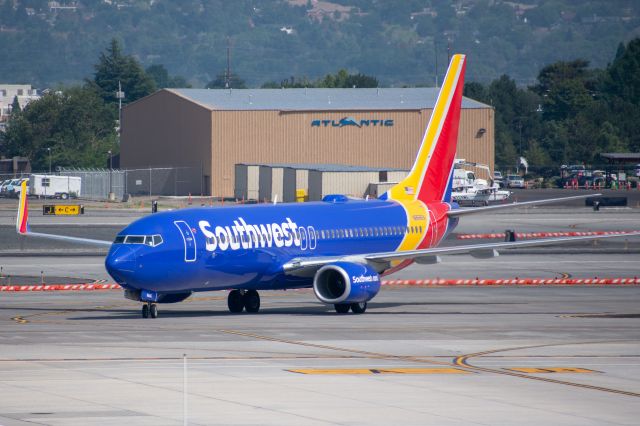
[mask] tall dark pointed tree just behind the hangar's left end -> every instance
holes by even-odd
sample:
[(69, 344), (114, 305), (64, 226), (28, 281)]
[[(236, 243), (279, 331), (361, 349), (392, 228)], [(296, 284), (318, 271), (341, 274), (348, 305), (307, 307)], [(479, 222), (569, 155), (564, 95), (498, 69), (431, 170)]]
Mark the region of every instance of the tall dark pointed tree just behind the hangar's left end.
[(117, 39), (112, 39), (109, 47), (100, 54), (98, 63), (94, 65), (93, 81), (89, 82), (97, 90), (100, 97), (108, 104), (118, 102), (118, 82), (122, 85), (126, 102), (133, 102), (156, 90), (153, 79), (147, 75), (138, 61), (122, 53), (122, 46)]

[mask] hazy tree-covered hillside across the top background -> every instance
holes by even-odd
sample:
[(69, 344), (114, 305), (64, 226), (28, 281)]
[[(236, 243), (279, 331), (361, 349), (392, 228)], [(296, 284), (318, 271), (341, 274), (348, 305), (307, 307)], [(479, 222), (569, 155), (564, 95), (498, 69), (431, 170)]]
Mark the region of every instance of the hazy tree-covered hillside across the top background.
[(0, 0), (0, 81), (79, 82), (116, 37), (145, 68), (194, 87), (224, 71), (228, 44), (250, 87), (341, 68), (383, 86), (433, 85), (448, 49), (469, 55), (470, 81), (530, 85), (559, 60), (605, 67), (640, 35), (639, 11), (631, 0)]

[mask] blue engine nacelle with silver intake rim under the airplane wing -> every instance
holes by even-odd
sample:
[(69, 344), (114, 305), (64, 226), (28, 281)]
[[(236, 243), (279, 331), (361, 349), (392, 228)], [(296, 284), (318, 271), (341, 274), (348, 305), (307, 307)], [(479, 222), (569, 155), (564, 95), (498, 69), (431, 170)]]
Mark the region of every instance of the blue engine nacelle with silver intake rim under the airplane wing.
[(313, 291), (327, 304), (367, 302), (380, 291), (380, 276), (369, 265), (330, 263), (316, 272)]

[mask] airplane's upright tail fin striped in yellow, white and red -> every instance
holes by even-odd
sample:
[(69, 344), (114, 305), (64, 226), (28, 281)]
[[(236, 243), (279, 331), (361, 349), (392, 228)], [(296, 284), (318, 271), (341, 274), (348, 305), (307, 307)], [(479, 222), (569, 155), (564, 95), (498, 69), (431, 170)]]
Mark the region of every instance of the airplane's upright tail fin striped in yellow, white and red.
[(383, 198), (450, 201), (465, 67), (465, 55), (454, 55), (411, 172)]

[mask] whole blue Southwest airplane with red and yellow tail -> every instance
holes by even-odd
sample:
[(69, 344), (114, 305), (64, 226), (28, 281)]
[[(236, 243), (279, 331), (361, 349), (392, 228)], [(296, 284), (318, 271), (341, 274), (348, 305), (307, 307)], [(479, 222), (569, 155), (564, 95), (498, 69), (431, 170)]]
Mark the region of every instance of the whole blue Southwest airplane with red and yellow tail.
[[(25, 236), (110, 246), (105, 266), (126, 298), (155, 318), (158, 303), (193, 292), (231, 290), (231, 312), (258, 312), (258, 290), (312, 287), (338, 313), (363, 313), (380, 276), (439, 254), (497, 255), (496, 249), (549, 244), (574, 237), (437, 248), (462, 215), (557, 201), (460, 209), (451, 203), (454, 157), (465, 72), (455, 55), (418, 156), (408, 176), (378, 200), (326, 196), (321, 202), (191, 208), (136, 220), (112, 242), (31, 232), (26, 188), (17, 232)], [(571, 198), (583, 197), (568, 197)], [(630, 234), (627, 234), (627, 236)]]

